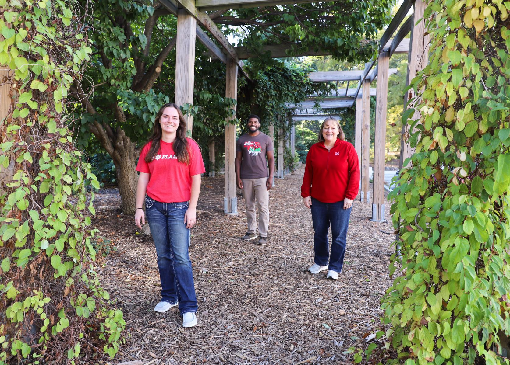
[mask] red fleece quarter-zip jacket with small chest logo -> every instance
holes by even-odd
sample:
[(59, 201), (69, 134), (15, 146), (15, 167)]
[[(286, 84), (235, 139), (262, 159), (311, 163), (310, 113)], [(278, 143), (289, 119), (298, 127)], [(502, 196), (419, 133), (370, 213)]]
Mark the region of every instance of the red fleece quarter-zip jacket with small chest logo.
[(301, 196), (323, 203), (354, 200), (360, 189), (360, 162), (354, 146), (337, 139), (331, 150), (319, 142), (310, 147), (304, 169)]

